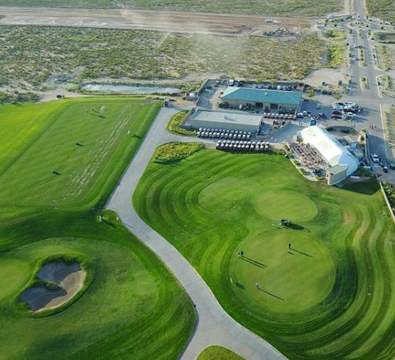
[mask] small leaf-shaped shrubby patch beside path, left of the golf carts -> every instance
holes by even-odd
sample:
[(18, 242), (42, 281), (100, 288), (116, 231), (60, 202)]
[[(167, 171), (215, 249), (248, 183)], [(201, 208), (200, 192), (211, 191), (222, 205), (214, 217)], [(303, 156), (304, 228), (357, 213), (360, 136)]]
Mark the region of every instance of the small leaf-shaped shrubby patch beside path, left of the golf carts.
[(159, 164), (178, 162), (181, 159), (190, 157), (190, 155), (198, 152), (204, 147), (204, 144), (193, 142), (169, 142), (168, 144), (163, 144), (156, 149), (156, 152), (153, 155), (153, 161)]

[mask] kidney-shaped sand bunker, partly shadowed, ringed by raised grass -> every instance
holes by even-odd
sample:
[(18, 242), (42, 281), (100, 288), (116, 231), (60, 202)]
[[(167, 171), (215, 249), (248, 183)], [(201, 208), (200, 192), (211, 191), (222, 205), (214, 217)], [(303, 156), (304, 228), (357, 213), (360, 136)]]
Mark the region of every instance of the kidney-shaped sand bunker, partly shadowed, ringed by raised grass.
[(58, 289), (49, 290), (40, 285), (23, 291), (20, 300), (26, 302), (33, 311), (53, 309), (70, 300), (84, 284), (86, 272), (79, 263), (67, 265), (63, 261), (53, 261), (40, 268), (37, 276), (41, 280), (55, 283)]

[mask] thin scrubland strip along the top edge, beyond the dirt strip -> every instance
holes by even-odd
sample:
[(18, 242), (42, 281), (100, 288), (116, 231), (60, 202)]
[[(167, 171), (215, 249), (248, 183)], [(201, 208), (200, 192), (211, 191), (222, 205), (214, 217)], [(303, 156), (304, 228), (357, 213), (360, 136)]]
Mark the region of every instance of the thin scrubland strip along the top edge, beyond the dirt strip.
[(88, 9), (156, 9), (174, 11), (209, 11), (232, 14), (287, 14), (291, 16), (315, 16), (339, 11), (340, 0), (317, 2), (314, 0), (0, 0), (0, 5), (6, 6), (50, 6), (76, 7)]

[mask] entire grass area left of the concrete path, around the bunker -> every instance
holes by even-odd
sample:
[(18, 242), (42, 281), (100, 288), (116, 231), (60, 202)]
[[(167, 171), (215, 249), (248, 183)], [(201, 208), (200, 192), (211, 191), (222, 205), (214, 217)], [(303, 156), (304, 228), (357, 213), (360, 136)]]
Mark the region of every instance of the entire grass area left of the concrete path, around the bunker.
[[(159, 108), (139, 97), (0, 106), (1, 358), (176, 359), (184, 349), (189, 297), (103, 210)], [(81, 283), (38, 316), (19, 295), (56, 287), (53, 275), (34, 280), (48, 259), (70, 259)]]

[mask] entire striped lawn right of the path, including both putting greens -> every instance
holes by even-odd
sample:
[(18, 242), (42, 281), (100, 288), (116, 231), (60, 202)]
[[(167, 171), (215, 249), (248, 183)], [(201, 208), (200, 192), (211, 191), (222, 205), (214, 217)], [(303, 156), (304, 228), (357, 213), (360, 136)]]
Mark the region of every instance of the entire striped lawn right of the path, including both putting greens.
[(395, 231), (375, 181), (338, 189), (280, 155), (203, 149), (151, 162), (133, 203), (289, 359), (394, 358)]

